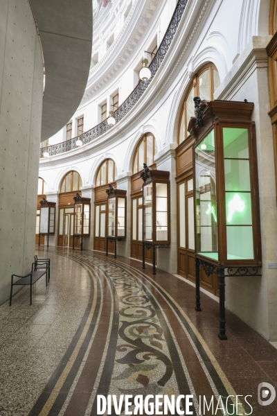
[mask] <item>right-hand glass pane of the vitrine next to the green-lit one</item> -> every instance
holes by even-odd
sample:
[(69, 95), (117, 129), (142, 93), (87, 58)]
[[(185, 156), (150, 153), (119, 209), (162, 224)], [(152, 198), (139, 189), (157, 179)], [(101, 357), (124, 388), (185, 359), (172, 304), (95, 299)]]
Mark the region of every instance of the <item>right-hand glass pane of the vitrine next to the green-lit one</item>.
[(156, 183), (156, 239), (168, 240), (168, 184)]

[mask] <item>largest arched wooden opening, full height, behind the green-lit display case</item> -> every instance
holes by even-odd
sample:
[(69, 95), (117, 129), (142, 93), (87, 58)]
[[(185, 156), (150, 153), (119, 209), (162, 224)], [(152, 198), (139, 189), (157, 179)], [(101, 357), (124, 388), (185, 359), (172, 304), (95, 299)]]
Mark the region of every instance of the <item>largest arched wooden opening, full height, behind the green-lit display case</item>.
[[(188, 123), (190, 117), (195, 115), (193, 98), (199, 96), (202, 100), (212, 101), (213, 93), (219, 85), (220, 76), (214, 64), (208, 63), (199, 69), (192, 83), (188, 86), (179, 116), (179, 146), (176, 149), (177, 272), (193, 282), (195, 282), (195, 220), (197, 223), (197, 218), (195, 218), (193, 198), (194, 138), (188, 132)], [(202, 180), (204, 179), (202, 178)], [(211, 191), (206, 190), (208, 186), (204, 187), (204, 189), (207, 195)], [(202, 287), (214, 295), (217, 294), (217, 282), (214, 275), (207, 277), (201, 270), (200, 280)]]

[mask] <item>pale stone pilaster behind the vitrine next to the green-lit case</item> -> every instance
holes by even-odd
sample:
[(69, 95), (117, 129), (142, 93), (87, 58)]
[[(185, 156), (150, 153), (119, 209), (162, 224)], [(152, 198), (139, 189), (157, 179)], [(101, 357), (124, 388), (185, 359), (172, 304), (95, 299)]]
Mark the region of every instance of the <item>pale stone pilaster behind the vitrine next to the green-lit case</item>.
[(177, 191), (176, 191), (176, 151), (177, 144), (171, 143), (163, 148), (154, 162), (159, 171), (170, 172), (170, 248), (157, 249), (157, 268), (177, 273)]

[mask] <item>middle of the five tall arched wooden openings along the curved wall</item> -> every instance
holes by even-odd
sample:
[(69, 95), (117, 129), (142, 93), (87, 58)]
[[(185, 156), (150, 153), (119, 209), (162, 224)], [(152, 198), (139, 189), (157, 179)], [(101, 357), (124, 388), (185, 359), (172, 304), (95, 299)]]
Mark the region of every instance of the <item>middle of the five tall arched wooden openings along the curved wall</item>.
[[(113, 159), (105, 159), (96, 173), (94, 249), (106, 250), (107, 243), (107, 185), (116, 189), (117, 169)], [(114, 252), (114, 242), (108, 243), (108, 251)]]

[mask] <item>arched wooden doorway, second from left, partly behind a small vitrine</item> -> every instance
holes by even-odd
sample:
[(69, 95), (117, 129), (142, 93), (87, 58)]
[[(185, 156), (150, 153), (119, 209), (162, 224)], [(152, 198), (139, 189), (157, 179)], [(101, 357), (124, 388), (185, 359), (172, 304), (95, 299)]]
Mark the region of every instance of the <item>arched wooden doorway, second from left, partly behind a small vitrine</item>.
[[(60, 183), (57, 245), (73, 247), (74, 200), (76, 192), (81, 195), (82, 178), (76, 171), (66, 173)], [(80, 247), (80, 239), (75, 239)]]

